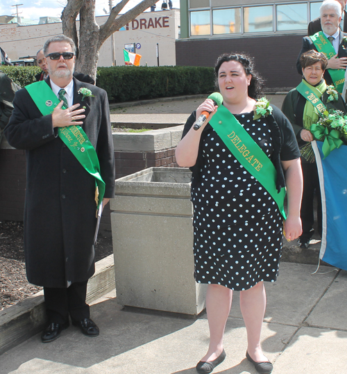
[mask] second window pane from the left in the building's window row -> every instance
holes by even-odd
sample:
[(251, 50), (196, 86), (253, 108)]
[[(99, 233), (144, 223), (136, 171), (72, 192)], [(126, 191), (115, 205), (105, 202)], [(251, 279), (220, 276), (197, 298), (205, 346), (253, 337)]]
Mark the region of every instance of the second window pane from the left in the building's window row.
[(213, 33), (241, 33), (241, 8), (217, 9), (212, 12)]

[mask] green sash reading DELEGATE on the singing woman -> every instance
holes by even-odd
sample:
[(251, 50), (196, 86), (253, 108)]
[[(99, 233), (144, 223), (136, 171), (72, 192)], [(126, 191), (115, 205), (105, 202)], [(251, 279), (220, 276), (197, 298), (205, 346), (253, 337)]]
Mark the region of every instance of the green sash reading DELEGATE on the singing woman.
[(280, 213), (286, 219), (283, 202), (285, 200), (285, 187), (280, 193), (276, 189), (276, 168), (262, 149), (248, 135), (247, 131), (237, 119), (221, 105), (217, 113), (209, 121), (214, 131), (217, 132), (223, 143), (230, 149), (230, 152), (237, 158), (244, 168), (250, 172), (257, 181), (273, 197)]

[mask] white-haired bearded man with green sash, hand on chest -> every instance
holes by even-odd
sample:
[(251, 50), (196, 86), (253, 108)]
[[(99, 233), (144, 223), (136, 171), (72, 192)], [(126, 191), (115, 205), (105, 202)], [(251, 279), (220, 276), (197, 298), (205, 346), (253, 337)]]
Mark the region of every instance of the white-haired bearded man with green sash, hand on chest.
[(322, 31), (303, 38), (303, 46), (296, 61), (296, 69), (303, 74), (300, 57), (310, 49), (322, 52), (328, 57), (328, 66), (324, 73), (324, 79), (328, 85), (333, 84), (342, 92), (344, 87), (344, 75), (347, 66), (347, 33), (339, 29), (341, 22), (341, 6), (336, 0), (323, 1), (321, 8)]

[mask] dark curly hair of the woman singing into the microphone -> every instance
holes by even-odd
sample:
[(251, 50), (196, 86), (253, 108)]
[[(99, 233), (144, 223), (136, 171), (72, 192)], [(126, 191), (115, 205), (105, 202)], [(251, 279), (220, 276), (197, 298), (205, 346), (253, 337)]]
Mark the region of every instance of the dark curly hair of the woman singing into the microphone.
[(216, 86), (218, 87), (218, 72), (222, 63), (228, 61), (237, 61), (244, 67), (246, 75), (252, 76), (251, 82), (248, 86), (248, 96), (252, 99), (259, 99), (262, 97), (262, 90), (264, 87), (264, 79), (254, 70), (254, 60), (247, 54), (222, 54), (217, 58), (216, 65), (214, 65), (214, 73), (216, 74)]

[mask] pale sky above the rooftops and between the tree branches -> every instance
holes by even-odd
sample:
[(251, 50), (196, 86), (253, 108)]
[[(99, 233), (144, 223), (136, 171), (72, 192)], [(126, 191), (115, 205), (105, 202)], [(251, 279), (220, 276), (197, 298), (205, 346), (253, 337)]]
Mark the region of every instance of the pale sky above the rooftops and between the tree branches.
[[(174, 8), (180, 7), (180, 0), (171, 0)], [(0, 15), (13, 15), (16, 12), (15, 4), (23, 4), (19, 6), (19, 15), (24, 18), (38, 20), (40, 17), (60, 17), (62, 9), (64, 8), (64, 3), (66, 0), (1, 0), (0, 3)], [(115, 6), (119, 0), (113, 0), (113, 5)], [(124, 7), (122, 13), (125, 13), (133, 6), (137, 5), (140, 0), (130, 0), (128, 4)], [(157, 5), (157, 10), (160, 9), (162, 5), (162, 0), (159, 0)], [(108, 0), (96, 0), (96, 15), (105, 15), (103, 12), (109, 10)]]

